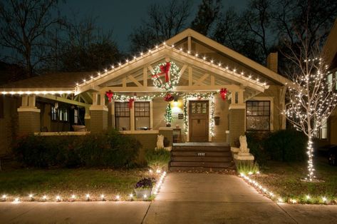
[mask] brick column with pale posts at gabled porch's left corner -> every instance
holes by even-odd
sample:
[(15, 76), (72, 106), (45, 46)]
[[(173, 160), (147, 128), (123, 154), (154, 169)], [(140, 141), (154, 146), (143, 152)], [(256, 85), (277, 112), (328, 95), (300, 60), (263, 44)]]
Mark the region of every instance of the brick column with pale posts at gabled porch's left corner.
[(98, 104), (98, 93), (93, 93), (93, 105), (90, 106), (90, 132), (102, 133), (108, 130), (108, 108), (105, 106), (104, 93), (100, 93)]

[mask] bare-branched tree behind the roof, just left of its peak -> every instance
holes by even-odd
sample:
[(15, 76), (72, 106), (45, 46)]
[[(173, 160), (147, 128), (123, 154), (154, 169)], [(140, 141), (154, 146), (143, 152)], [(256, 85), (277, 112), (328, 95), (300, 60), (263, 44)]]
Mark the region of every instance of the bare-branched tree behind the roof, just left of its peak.
[(130, 34), (130, 51), (138, 53), (170, 39), (186, 28), (190, 16), (190, 1), (167, 1), (152, 4), (147, 19)]

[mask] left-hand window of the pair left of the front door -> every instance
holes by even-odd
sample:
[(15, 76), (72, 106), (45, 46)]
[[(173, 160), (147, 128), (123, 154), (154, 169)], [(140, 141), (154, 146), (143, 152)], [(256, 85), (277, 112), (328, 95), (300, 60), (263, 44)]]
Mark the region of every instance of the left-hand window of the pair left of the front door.
[(115, 128), (130, 130), (130, 108), (128, 102), (115, 102)]

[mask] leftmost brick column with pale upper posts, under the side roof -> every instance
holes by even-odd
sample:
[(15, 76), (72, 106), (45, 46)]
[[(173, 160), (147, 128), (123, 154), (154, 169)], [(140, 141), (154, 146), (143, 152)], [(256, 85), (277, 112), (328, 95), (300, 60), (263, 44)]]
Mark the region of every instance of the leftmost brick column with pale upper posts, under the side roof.
[(19, 113), (19, 135), (40, 132), (40, 109), (36, 108), (36, 96), (22, 96)]

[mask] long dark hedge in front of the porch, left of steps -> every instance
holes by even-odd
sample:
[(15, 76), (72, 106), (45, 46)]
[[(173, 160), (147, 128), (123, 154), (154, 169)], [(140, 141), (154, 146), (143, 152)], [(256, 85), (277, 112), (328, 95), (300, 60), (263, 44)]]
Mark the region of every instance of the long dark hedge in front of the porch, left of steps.
[(18, 161), (27, 167), (132, 167), (139, 141), (111, 130), (87, 136), (25, 136), (14, 146)]

